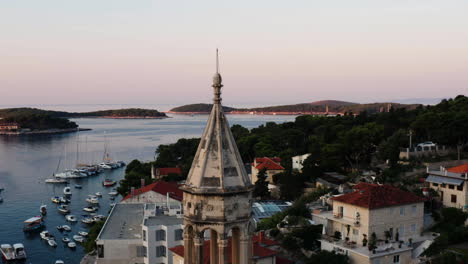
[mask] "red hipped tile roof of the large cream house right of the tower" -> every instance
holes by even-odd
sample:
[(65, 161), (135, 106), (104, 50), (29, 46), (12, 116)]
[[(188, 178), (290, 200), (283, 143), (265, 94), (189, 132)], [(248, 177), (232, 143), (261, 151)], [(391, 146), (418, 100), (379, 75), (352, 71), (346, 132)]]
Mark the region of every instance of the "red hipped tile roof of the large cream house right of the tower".
[(376, 209), (424, 202), (425, 199), (413, 193), (402, 191), (391, 185), (378, 185), (361, 182), (354, 186), (355, 191), (332, 198), (359, 207)]

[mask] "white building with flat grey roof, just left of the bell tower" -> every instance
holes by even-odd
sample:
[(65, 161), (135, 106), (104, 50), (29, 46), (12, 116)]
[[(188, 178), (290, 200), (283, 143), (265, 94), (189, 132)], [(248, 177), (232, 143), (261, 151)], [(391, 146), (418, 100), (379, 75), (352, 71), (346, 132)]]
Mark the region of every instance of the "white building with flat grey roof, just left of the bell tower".
[(172, 264), (183, 244), (183, 218), (155, 203), (115, 205), (96, 239), (96, 264)]

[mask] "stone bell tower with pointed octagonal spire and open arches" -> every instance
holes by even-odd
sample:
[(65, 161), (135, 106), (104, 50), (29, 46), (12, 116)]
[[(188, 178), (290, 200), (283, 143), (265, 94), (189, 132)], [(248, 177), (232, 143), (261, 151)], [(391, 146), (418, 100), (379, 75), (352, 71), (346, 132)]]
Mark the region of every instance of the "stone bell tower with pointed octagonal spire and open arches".
[[(184, 191), (184, 263), (248, 264), (252, 261), (252, 184), (221, 106), (222, 78), (213, 77), (213, 109), (192, 163)], [(204, 256), (209, 231), (210, 256)], [(228, 254), (228, 245), (231, 254)], [(228, 257), (230, 259), (228, 259)]]

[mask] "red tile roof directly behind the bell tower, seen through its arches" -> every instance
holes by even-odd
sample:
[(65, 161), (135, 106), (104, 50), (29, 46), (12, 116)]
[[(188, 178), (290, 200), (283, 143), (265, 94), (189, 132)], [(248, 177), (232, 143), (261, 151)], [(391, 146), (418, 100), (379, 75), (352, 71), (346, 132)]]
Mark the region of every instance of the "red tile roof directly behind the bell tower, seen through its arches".
[[(277, 252), (260, 245), (258, 243), (258, 239), (259, 239), (258, 235), (253, 237), (254, 257), (257, 257), (257, 258), (276, 257)], [(231, 238), (229, 238), (228, 246), (227, 246), (227, 249), (226, 249), (228, 263), (232, 263), (231, 262), (231, 253), (232, 253), (232, 250), (231, 250), (232, 244), (231, 243), (232, 243), (232, 240), (231, 240)], [(181, 257), (184, 257), (184, 246), (173, 247), (173, 248), (170, 248), (169, 250), (171, 250), (172, 252), (174, 252), (175, 254), (177, 254), (177, 255), (179, 255)], [(284, 258), (280, 259), (280, 261), (283, 261), (283, 262), (278, 262), (278, 257), (276, 257), (276, 261), (277, 261), (276, 263), (281, 263), (281, 264), (293, 263), (292, 261), (287, 262), (289, 260), (284, 259)], [(209, 264), (210, 263), (210, 241), (209, 240), (205, 241), (204, 244), (203, 244), (203, 263), (204, 264)]]

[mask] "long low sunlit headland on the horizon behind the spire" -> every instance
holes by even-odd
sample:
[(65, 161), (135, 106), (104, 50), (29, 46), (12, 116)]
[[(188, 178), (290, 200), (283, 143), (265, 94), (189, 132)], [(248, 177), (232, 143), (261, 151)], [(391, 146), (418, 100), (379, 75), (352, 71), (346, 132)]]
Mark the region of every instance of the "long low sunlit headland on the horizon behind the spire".
[[(369, 114), (387, 112), (390, 109), (406, 108), (415, 109), (419, 104), (399, 103), (371, 103), (359, 104), (352, 102), (324, 100), (311, 103), (278, 105), (256, 108), (233, 108), (223, 106), (227, 114), (252, 114), (252, 115), (344, 115), (345, 113), (359, 114), (366, 111)], [(208, 114), (212, 104), (189, 104), (173, 108), (166, 113), (171, 114)]]

